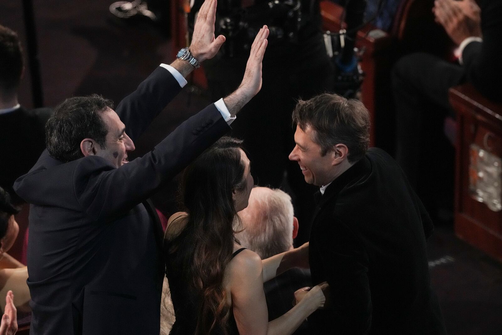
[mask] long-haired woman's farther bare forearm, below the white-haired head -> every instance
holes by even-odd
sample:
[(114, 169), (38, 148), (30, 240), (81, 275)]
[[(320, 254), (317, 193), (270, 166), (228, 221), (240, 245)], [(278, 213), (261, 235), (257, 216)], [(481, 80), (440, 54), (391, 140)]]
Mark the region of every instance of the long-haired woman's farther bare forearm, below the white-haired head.
[(296, 249), (264, 259), (262, 263), (264, 283), (293, 267), (308, 268), (309, 243), (307, 242)]

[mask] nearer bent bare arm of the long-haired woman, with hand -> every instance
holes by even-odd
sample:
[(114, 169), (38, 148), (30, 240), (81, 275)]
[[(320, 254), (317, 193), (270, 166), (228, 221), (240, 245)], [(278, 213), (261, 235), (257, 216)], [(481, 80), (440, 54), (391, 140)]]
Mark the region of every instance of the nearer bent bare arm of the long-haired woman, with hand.
[(228, 271), (233, 315), (240, 335), (289, 335), (324, 304), (324, 295), (316, 286), (289, 312), (269, 322), (260, 257), (244, 250), (230, 262)]

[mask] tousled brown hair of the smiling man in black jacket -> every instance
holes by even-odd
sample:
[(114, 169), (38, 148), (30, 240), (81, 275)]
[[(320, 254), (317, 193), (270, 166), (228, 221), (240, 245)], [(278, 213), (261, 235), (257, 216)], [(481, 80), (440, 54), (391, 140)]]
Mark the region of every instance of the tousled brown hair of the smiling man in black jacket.
[(321, 147), (321, 156), (337, 144), (348, 148), (350, 163), (361, 159), (369, 146), (369, 113), (362, 102), (338, 94), (323, 93), (299, 100), (293, 110), (293, 127), (314, 131), (313, 141)]

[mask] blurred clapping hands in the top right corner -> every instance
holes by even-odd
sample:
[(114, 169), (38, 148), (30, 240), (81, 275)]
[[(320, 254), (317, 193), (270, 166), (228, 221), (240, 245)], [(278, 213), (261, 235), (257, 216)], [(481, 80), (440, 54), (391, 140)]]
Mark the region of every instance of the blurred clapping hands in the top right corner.
[(481, 11), (474, 0), (436, 0), (432, 12), (457, 45), (468, 37), (481, 37)]

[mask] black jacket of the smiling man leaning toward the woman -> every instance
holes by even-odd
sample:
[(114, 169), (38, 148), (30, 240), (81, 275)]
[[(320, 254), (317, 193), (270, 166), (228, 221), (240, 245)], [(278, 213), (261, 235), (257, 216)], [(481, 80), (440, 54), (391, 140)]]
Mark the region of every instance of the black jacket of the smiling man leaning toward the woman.
[(309, 317), (313, 334), (443, 334), (427, 262), (433, 230), (398, 164), (371, 148), (336, 178), (314, 214), (312, 283), (333, 305)]

